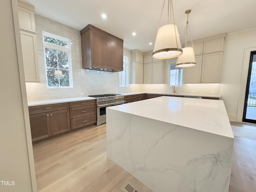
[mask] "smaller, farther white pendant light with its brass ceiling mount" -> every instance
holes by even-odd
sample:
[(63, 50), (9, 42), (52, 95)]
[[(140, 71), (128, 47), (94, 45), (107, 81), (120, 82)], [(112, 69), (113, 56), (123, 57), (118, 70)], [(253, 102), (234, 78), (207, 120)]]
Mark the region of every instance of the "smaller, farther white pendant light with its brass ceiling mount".
[[(187, 23), (186, 23), (186, 28), (185, 28), (185, 32), (184, 32), (184, 35), (186, 35), (185, 46), (184, 46), (184, 48), (182, 48), (183, 54), (181, 56), (179, 56), (177, 59), (176, 67), (192, 67), (192, 66), (196, 65), (194, 47), (193, 47), (190, 27), (189, 27), (189, 23), (188, 23), (188, 14), (189, 13), (191, 13), (191, 9), (185, 11), (185, 14), (187, 14)], [(189, 29), (189, 33), (190, 33), (192, 47), (187, 47), (188, 29)]]

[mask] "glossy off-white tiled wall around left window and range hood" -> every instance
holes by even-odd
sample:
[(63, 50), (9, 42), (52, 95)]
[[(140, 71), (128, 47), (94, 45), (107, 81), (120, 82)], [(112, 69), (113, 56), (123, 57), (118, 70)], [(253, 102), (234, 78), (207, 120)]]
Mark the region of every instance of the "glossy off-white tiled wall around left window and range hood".
[[(35, 19), (40, 82), (26, 83), (28, 101), (80, 97), (82, 96), (81, 94), (88, 96), (93, 94), (136, 92), (140, 90), (138, 85), (119, 87), (119, 72), (99, 72), (82, 69), (80, 31), (42, 16), (36, 15)], [(71, 40), (73, 88), (46, 88), (42, 31), (63, 36)], [(130, 51), (124, 49), (124, 55), (128, 56), (130, 62)]]

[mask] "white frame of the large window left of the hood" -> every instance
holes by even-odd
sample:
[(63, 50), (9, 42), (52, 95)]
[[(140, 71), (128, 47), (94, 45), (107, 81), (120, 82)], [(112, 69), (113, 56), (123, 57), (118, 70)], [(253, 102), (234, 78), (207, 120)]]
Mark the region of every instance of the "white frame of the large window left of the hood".
[[(67, 42), (67, 46), (60, 46), (60, 45), (56, 45), (56, 44), (52, 44), (52, 43), (48, 43), (44, 41), (44, 36), (47, 36), (49, 38), (54, 38), (60, 41), (65, 41)], [(44, 32), (42, 31), (42, 38), (43, 38), (43, 51), (44, 51), (44, 66), (45, 66), (45, 74), (46, 74), (46, 86), (49, 89), (52, 88), (73, 88), (73, 76), (72, 76), (72, 57), (71, 57), (71, 40), (68, 38), (64, 38), (62, 36), (58, 36), (56, 34), (51, 34), (48, 32)], [(63, 51), (63, 52), (67, 52), (68, 54), (68, 76), (69, 76), (69, 86), (48, 86), (48, 76), (47, 76), (47, 69), (50, 67), (46, 66), (46, 54), (45, 54), (45, 49), (49, 48), (49, 49), (54, 49), (58, 51)], [(59, 67), (57, 67), (59, 69)], [(65, 69), (66, 70), (66, 69)]]

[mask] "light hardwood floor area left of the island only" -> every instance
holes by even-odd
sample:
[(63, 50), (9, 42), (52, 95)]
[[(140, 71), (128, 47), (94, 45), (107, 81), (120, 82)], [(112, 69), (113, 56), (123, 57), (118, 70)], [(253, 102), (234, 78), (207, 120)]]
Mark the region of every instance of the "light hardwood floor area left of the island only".
[(122, 192), (146, 186), (106, 156), (106, 125), (91, 126), (33, 146), (38, 192)]

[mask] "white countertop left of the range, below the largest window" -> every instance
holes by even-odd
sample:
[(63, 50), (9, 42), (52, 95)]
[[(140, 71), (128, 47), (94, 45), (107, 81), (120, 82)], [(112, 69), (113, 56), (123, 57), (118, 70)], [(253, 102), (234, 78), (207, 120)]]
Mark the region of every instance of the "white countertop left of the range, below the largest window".
[(84, 101), (95, 99), (94, 97), (76, 97), (76, 98), (64, 98), (64, 99), (52, 99), (52, 100), (42, 100), (42, 101), (30, 101), (28, 102), (28, 106), (38, 106), (38, 105), (48, 105), (48, 104), (56, 104), (56, 103), (65, 103), (65, 102), (73, 102), (73, 101)]

